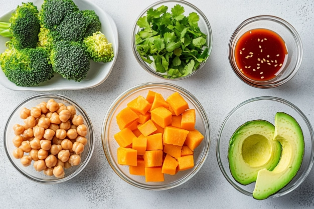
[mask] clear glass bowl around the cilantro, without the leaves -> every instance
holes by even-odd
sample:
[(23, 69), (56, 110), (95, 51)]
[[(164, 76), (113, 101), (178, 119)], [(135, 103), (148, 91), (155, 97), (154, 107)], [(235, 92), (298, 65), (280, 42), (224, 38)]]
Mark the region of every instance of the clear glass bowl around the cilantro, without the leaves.
[[(132, 30), (132, 50), (133, 50), (133, 54), (137, 60), (137, 62), (139, 63), (140, 66), (142, 66), (142, 68), (144, 68), (144, 70), (146, 70), (148, 73), (150, 73), (151, 75), (154, 75), (156, 77), (159, 78), (163, 78), (163, 79), (167, 79), (169, 80), (169, 78), (165, 78), (164, 76), (166, 75), (165, 73), (160, 73), (160, 72), (156, 72), (155, 68), (152, 65), (149, 65), (148, 63), (146, 63), (145, 61), (142, 60), (142, 58), (140, 57), (140, 55), (138, 54), (138, 52), (136, 51), (136, 44), (135, 44), (135, 35), (140, 31), (140, 28), (137, 26), (136, 22), (139, 18), (146, 16), (147, 11), (150, 8), (156, 9), (159, 8), (161, 6), (167, 6), (168, 7), (168, 12), (170, 12), (171, 8), (173, 8), (175, 5), (181, 5), (182, 7), (184, 7), (184, 15), (188, 16), (190, 13), (195, 12), (199, 15), (200, 20), (198, 22), (199, 24), (199, 28), (200, 30), (205, 33), (207, 35), (207, 40), (206, 43), (208, 45), (208, 55), (210, 55), (211, 51), (212, 51), (212, 46), (213, 46), (213, 35), (212, 35), (212, 29), (211, 26), (206, 18), (206, 16), (202, 13), (202, 11), (200, 11), (197, 7), (195, 7), (194, 5), (186, 2), (186, 1), (182, 1), (182, 0), (163, 0), (163, 1), (159, 1), (156, 2), (152, 5), (150, 5), (149, 7), (147, 7), (136, 19), (135, 24), (133, 26), (133, 30)], [(208, 57), (209, 58), (209, 57)], [(208, 58), (202, 62), (200, 64), (200, 66), (197, 68), (197, 70), (193, 71), (190, 75), (187, 75), (185, 77), (181, 77), (181, 78), (175, 78), (175, 79), (170, 79), (170, 80), (182, 80), (185, 78), (188, 78), (192, 75), (194, 75), (196, 72), (198, 72), (201, 68), (204, 67), (206, 61), (208, 60)]]

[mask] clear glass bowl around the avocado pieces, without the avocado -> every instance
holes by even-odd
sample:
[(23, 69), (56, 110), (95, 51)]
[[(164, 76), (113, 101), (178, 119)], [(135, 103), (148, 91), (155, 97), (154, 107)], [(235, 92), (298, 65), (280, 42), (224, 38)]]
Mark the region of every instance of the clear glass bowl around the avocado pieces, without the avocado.
[(295, 177), (270, 197), (279, 197), (293, 191), (308, 175), (314, 160), (313, 143), (314, 133), (306, 116), (295, 105), (276, 97), (256, 97), (236, 106), (225, 118), (220, 126), (216, 142), (216, 155), (220, 169), (229, 183), (238, 191), (252, 196), (255, 182), (249, 185), (238, 183), (231, 175), (228, 162), (229, 140), (237, 128), (247, 121), (266, 120), (274, 124), (275, 114), (285, 112), (299, 123), (304, 135), (304, 156), (301, 167)]

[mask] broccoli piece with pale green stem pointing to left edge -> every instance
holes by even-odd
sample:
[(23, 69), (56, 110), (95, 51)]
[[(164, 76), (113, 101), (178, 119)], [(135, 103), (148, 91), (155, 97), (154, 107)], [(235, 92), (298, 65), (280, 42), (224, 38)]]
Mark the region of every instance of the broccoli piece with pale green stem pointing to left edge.
[(18, 6), (9, 22), (0, 24), (0, 35), (12, 37), (8, 46), (18, 50), (36, 47), (40, 24), (38, 10), (33, 3)]

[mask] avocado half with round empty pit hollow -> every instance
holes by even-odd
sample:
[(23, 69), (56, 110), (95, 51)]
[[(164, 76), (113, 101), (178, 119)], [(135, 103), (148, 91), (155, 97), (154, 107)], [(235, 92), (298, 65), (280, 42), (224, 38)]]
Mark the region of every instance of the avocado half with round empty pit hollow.
[(273, 170), (279, 162), (281, 145), (273, 140), (275, 127), (265, 120), (241, 125), (229, 142), (229, 168), (234, 179), (247, 185), (256, 181), (259, 170)]

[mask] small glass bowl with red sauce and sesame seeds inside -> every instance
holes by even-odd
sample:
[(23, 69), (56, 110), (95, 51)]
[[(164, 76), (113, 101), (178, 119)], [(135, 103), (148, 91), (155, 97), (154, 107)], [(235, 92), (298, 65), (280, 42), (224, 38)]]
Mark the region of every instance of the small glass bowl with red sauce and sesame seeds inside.
[(245, 20), (233, 32), (228, 58), (235, 74), (256, 88), (274, 88), (298, 71), (303, 48), (296, 30), (274, 16)]

